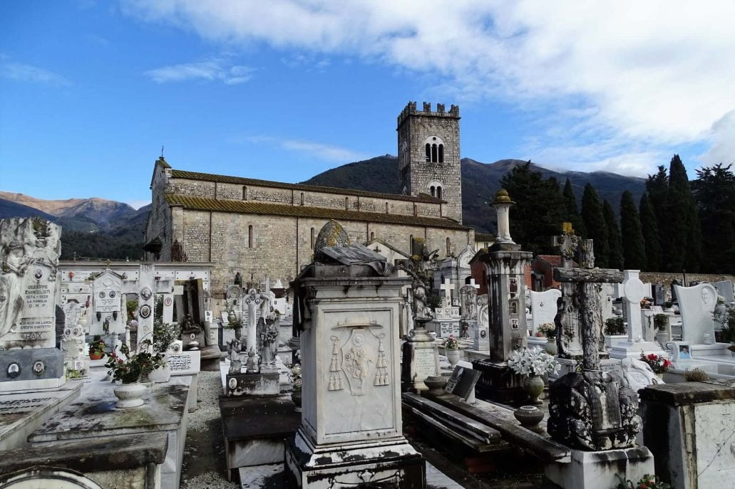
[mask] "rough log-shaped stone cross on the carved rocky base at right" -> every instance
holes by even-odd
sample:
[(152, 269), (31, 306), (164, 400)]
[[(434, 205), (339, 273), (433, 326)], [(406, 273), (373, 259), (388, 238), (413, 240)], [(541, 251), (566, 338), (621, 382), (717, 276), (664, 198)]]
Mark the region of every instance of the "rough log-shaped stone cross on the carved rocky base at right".
[(599, 331), (602, 323), (600, 283), (619, 283), (623, 273), (616, 269), (595, 268), (592, 239), (584, 239), (580, 250), (581, 268), (560, 267), (554, 269), (554, 279), (576, 286), (579, 303), (579, 324), (582, 341), (582, 367), (584, 370), (600, 370), (598, 353)]

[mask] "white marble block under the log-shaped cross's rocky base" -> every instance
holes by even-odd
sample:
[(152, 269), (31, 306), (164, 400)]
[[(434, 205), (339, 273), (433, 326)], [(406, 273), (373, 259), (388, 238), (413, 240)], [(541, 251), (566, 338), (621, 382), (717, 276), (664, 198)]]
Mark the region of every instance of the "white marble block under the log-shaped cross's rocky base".
[(614, 488), (624, 480), (638, 482), (653, 474), (653, 455), (645, 446), (629, 449), (583, 452), (572, 450), (570, 463), (548, 463), (544, 474), (564, 489)]

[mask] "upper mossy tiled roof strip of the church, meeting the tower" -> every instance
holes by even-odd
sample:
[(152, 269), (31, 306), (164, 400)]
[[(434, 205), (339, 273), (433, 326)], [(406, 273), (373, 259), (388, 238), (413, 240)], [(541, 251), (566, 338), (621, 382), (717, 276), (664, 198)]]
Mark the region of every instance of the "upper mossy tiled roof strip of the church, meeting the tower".
[(338, 189), (333, 186), (318, 186), (318, 185), (302, 185), (302, 184), (285, 184), (279, 181), (270, 180), (258, 180), (257, 178), (243, 178), (234, 177), (227, 175), (214, 175), (212, 173), (198, 173), (198, 172), (187, 172), (184, 170), (171, 170), (171, 178), (183, 178), (184, 180), (203, 180), (203, 181), (216, 181), (223, 184), (238, 184), (238, 185), (255, 185), (255, 186), (270, 186), (277, 189), (293, 189), (293, 190), (305, 190), (307, 192), (325, 192), (329, 194), (341, 194), (341, 195), (359, 195), (362, 197), (373, 197), (379, 199), (392, 199), (392, 200), (409, 200), (410, 202), (426, 202), (426, 203), (442, 203), (445, 200), (440, 200), (435, 197), (431, 197), (428, 194), (420, 194), (418, 196), (413, 195), (401, 195), (401, 194), (384, 194), (380, 192), (368, 192), (366, 190), (354, 190), (354, 189)]

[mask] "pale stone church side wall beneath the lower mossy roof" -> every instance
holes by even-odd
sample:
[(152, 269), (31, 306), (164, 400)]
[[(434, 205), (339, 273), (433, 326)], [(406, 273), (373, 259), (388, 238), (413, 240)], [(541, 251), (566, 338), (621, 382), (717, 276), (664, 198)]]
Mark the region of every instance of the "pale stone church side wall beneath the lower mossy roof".
[[(181, 211), (181, 208), (176, 208)], [(174, 220), (175, 222), (176, 220)], [(211, 222), (211, 228), (210, 228)], [(249, 277), (291, 280), (313, 257), (313, 244), (326, 218), (284, 217), (234, 212), (209, 212), (186, 209), (182, 228), (184, 252), (190, 261), (212, 261), (212, 279), (233, 278), (236, 272)], [(370, 236), (382, 239), (409, 255), (409, 236), (426, 239), (429, 250), (445, 256), (446, 239), (455, 250), (473, 242), (467, 229), (440, 229), (393, 225), (378, 222), (340, 221), (350, 238), (368, 242)], [(210, 236), (211, 249), (210, 249)]]

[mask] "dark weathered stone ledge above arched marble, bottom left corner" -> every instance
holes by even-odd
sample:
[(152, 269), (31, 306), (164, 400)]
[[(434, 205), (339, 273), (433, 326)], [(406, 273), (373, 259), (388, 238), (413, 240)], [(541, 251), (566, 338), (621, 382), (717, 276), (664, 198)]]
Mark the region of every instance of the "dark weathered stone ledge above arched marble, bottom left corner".
[(88, 474), (145, 467), (148, 463), (161, 465), (167, 450), (168, 435), (165, 433), (45, 443), (35, 448), (0, 452), (0, 474), (35, 466), (71, 468)]

